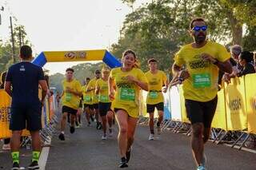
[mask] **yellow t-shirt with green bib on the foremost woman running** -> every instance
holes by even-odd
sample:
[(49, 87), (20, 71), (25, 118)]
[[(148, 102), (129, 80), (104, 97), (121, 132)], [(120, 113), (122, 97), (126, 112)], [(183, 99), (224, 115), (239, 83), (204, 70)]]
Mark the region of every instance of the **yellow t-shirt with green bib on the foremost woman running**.
[(129, 72), (123, 72), (121, 68), (112, 69), (110, 78), (114, 79), (114, 85), (116, 86), (112, 105), (113, 108), (126, 110), (130, 117), (138, 117), (138, 95), (140, 88), (138, 85), (126, 80), (128, 75), (147, 83), (146, 76), (141, 69), (134, 68)]

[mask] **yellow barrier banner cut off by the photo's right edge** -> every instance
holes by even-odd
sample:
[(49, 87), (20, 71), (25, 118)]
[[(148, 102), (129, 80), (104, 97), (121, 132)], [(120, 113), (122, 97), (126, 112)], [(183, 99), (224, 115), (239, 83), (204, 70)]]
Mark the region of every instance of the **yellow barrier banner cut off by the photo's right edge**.
[(256, 74), (247, 74), (246, 83), (246, 113), (248, 116), (248, 132), (256, 134)]

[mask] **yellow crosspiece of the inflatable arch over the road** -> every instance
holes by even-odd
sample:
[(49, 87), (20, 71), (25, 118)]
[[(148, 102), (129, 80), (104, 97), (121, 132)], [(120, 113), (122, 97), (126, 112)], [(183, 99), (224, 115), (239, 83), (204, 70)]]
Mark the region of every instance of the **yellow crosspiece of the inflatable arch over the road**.
[(59, 61), (102, 61), (106, 50), (79, 50), (79, 51), (45, 51), (48, 62)]

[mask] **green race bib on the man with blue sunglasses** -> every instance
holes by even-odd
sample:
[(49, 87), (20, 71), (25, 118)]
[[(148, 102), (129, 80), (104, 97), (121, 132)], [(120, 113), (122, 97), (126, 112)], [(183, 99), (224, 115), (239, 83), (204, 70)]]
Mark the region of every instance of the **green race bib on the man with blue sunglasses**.
[(192, 78), (194, 88), (205, 88), (211, 86), (210, 73), (193, 74)]

